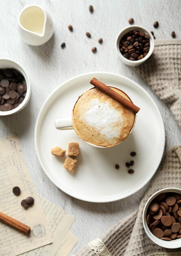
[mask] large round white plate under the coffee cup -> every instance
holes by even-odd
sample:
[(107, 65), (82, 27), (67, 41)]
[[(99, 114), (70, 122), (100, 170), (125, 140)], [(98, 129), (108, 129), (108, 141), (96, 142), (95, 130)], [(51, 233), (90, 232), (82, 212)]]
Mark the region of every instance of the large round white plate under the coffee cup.
[[(79, 95), (91, 88), (96, 77), (120, 88), (140, 107), (131, 135), (113, 148), (95, 148), (82, 141), (74, 130), (56, 130), (55, 119), (71, 116)], [(51, 149), (67, 150), (69, 142), (79, 142), (80, 155), (74, 174), (63, 168), (65, 157), (55, 157)], [(154, 175), (164, 152), (165, 130), (159, 109), (137, 83), (107, 72), (76, 76), (60, 85), (42, 106), (35, 127), (35, 147), (46, 175), (65, 193), (89, 202), (111, 202), (132, 195)], [(137, 155), (131, 157), (130, 152)], [(135, 173), (129, 174), (126, 162), (134, 160)], [(115, 164), (120, 168), (116, 170)]]

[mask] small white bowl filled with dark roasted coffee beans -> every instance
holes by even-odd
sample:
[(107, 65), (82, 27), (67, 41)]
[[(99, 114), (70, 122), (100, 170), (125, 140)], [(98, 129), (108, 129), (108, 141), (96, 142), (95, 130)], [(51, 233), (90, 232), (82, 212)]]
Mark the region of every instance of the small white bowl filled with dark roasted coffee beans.
[(153, 53), (154, 38), (144, 27), (129, 26), (118, 34), (116, 49), (124, 64), (139, 66)]

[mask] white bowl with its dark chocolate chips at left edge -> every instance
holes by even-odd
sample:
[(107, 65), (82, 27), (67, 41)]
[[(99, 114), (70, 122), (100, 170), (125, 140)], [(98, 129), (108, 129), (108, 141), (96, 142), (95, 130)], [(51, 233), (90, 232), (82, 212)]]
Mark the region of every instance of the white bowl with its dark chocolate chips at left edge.
[(0, 59), (0, 116), (22, 110), (31, 97), (28, 76), (15, 61)]

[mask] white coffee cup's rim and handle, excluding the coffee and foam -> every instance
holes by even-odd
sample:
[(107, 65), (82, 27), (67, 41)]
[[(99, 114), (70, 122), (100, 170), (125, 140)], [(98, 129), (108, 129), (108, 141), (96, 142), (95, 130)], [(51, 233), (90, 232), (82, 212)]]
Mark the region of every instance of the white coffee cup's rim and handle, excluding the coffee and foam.
[[(111, 88), (116, 88), (116, 87), (113, 87), (113, 86), (109, 86), (109, 87), (111, 87)], [(89, 88), (88, 90), (90, 90), (91, 88)], [(118, 89), (118, 90), (120, 90), (119, 88), (116, 88), (116, 89)], [(86, 91), (88, 91), (88, 90), (86, 90)], [(122, 91), (122, 90), (120, 90), (120, 91)], [(123, 91), (122, 91), (123, 92)], [(84, 93), (84, 92), (83, 92)], [(125, 92), (124, 92), (124, 94), (126, 94)], [(82, 94), (81, 94), (82, 95)], [(126, 96), (127, 97), (129, 97), (127, 94), (126, 94)], [(81, 97), (81, 96), (80, 96)], [(79, 98), (78, 98), (79, 99)], [(76, 102), (78, 101), (78, 99), (76, 100)], [(130, 99), (130, 97), (129, 97), (129, 99)], [(130, 99), (131, 100), (131, 99)], [(131, 102), (133, 102), (132, 100), (131, 100)], [(76, 105), (76, 103), (74, 104), (74, 106)], [(73, 110), (74, 110), (74, 107), (73, 107)], [(73, 117), (73, 110), (72, 110), (72, 117)], [(73, 127), (73, 124), (72, 124), (72, 117), (68, 117), (68, 118), (64, 118), (64, 119), (56, 119), (55, 120), (55, 128), (57, 129), (57, 130), (71, 130), (71, 129), (74, 129), (74, 127)], [(132, 129), (131, 129), (131, 131), (130, 131), (130, 133), (132, 132), (132, 130), (133, 130), (133, 128), (134, 128), (134, 126), (135, 126), (135, 122), (136, 122), (136, 114), (135, 114), (135, 120), (134, 120), (134, 123), (133, 123), (133, 127), (132, 127)], [(75, 130), (75, 129), (74, 129)], [(76, 132), (76, 131), (75, 131)], [(129, 133), (129, 135), (130, 135), (130, 133)], [(78, 135), (78, 134), (77, 134)], [(129, 135), (126, 137), (126, 139), (129, 137)], [(83, 141), (85, 141), (80, 135), (78, 135)], [(89, 144), (89, 145), (91, 145), (91, 146), (94, 146), (94, 147), (96, 147), (96, 148), (110, 148), (110, 147), (113, 147), (113, 146), (116, 146), (116, 145), (118, 145), (118, 144), (120, 144), (120, 143), (122, 143), (123, 141), (121, 141), (121, 142), (119, 142), (118, 144), (115, 144), (115, 145), (112, 145), (112, 146), (98, 146), (98, 145), (95, 145), (95, 144), (92, 144), (92, 143), (90, 143), (90, 142), (88, 142), (88, 141), (85, 141), (87, 144)]]

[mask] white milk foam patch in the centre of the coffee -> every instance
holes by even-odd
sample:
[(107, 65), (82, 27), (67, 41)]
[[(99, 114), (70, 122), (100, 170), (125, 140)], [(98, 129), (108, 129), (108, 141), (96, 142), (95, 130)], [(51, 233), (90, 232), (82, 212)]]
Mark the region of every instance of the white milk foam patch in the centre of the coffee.
[[(108, 102), (92, 99), (84, 118), (87, 124), (96, 128), (100, 134), (105, 136), (105, 139), (120, 137), (124, 117)], [(119, 126), (116, 125), (116, 122), (119, 122)]]

